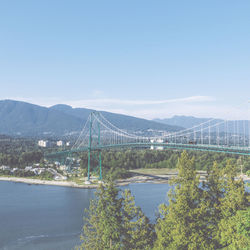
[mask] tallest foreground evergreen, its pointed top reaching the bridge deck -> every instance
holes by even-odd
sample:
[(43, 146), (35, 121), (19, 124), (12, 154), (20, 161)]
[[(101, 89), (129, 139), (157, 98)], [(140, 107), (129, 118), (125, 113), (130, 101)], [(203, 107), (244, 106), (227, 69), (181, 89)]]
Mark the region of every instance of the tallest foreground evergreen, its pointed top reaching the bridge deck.
[(194, 158), (186, 151), (178, 160), (175, 191), (169, 195), (169, 205), (160, 207), (156, 224), (155, 249), (213, 249), (207, 237), (207, 203), (199, 187)]

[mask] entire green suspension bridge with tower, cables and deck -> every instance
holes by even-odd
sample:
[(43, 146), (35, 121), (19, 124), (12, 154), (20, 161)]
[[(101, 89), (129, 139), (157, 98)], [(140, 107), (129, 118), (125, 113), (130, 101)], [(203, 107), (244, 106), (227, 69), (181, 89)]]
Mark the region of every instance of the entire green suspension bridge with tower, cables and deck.
[[(119, 148), (176, 149), (219, 152), (250, 156), (250, 121), (210, 119), (177, 132), (162, 131), (156, 136), (142, 136), (120, 129), (102, 113), (92, 112), (79, 137), (69, 150), (46, 155), (48, 160), (65, 160), (75, 153), (88, 152), (88, 180), (94, 162), (102, 179), (101, 152)], [(59, 160), (60, 161), (60, 160)]]

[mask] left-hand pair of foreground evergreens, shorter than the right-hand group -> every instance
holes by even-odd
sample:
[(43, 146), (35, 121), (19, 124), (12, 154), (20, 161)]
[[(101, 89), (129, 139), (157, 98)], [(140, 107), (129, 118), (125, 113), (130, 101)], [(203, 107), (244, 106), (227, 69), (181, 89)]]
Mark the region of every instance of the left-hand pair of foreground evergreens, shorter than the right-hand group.
[(149, 249), (153, 243), (153, 226), (135, 206), (130, 191), (122, 197), (112, 182), (101, 185), (96, 199), (86, 211), (85, 225), (78, 249)]

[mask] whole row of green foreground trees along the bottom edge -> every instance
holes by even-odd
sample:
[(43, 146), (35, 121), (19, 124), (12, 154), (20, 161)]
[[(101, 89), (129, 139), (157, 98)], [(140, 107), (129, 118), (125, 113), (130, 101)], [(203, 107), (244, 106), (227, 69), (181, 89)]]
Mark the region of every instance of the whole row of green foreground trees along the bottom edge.
[(101, 184), (85, 216), (78, 249), (249, 249), (249, 193), (236, 179), (237, 167), (216, 162), (200, 183), (195, 157), (184, 151), (168, 204), (155, 223), (136, 206), (129, 190)]

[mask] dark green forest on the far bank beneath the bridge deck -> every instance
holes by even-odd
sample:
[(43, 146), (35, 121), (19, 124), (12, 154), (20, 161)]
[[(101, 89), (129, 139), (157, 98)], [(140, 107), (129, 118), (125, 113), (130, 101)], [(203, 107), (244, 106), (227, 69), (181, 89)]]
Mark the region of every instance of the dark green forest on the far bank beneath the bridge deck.
[[(178, 158), (182, 151), (180, 150), (123, 150), (123, 151), (103, 151), (102, 166), (104, 176), (112, 175), (115, 178), (129, 176), (128, 170), (138, 168), (176, 168)], [(226, 166), (228, 160), (237, 166), (237, 171), (241, 169), (245, 173), (250, 170), (250, 157), (238, 156), (224, 153), (190, 151), (190, 156), (195, 157), (196, 170), (208, 170), (215, 161), (219, 168)], [(98, 162), (95, 158), (92, 160), (92, 166), (96, 167), (98, 172)], [(81, 167), (87, 169), (87, 153), (81, 154)]]

